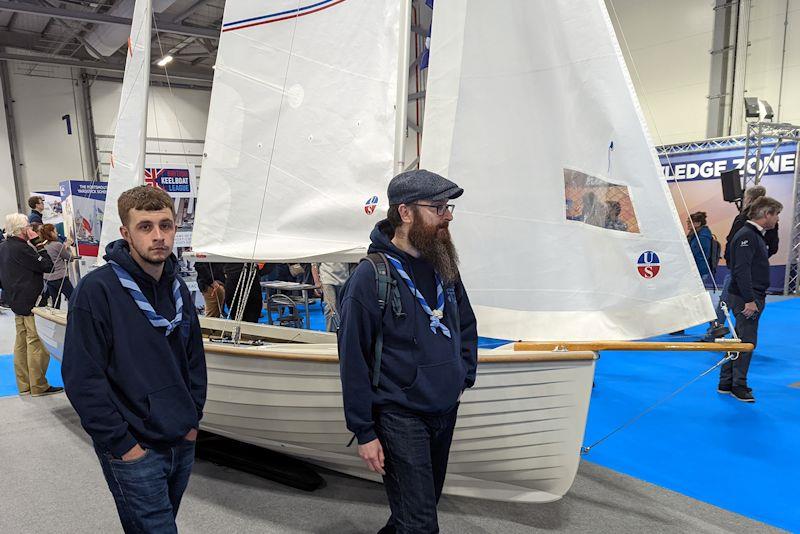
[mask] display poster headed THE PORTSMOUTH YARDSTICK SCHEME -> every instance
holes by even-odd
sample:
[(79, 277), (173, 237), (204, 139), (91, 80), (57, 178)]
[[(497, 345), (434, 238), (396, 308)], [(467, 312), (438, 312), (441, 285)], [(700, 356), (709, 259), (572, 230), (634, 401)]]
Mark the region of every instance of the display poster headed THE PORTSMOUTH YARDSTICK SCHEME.
[(60, 186), (65, 232), (75, 242), (79, 256), (97, 257), (106, 183), (66, 180)]

